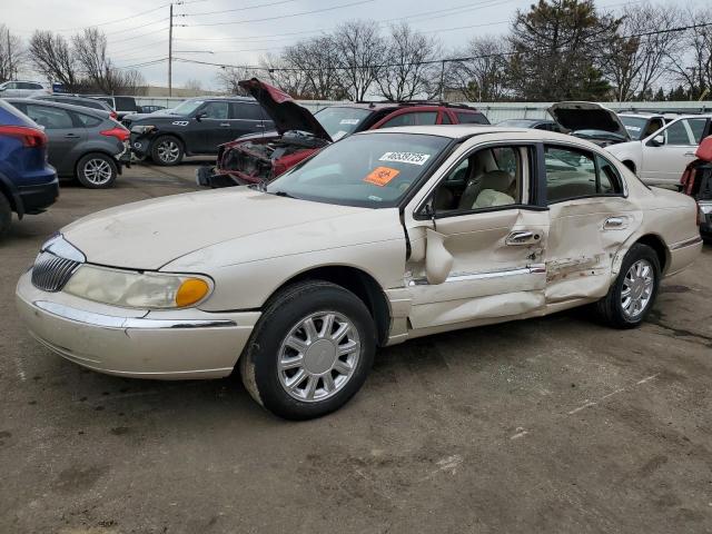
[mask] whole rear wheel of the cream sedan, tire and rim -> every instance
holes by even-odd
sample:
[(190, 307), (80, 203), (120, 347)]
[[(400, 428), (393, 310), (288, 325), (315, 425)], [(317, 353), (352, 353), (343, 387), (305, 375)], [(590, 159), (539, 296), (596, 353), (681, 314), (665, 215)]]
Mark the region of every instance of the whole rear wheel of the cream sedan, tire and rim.
[(634, 328), (647, 316), (660, 286), (660, 260), (647, 245), (631, 247), (609, 294), (599, 300), (599, 315), (615, 328)]

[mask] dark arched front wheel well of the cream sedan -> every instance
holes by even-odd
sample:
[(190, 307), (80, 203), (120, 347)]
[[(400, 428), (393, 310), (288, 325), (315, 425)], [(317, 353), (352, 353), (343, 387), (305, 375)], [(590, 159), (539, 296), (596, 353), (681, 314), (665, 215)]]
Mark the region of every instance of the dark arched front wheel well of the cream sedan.
[[(380, 285), (369, 274), (347, 266), (317, 267), (301, 273), (283, 284), (279, 289), (304, 280), (325, 280), (342, 286), (356, 295), (368, 308), (378, 334), (378, 344), (383, 345), (388, 338), (390, 327), (390, 308)], [(279, 290), (278, 289), (278, 290)], [(275, 291), (276, 294), (277, 291)], [(271, 299), (271, 297), (270, 297)]]

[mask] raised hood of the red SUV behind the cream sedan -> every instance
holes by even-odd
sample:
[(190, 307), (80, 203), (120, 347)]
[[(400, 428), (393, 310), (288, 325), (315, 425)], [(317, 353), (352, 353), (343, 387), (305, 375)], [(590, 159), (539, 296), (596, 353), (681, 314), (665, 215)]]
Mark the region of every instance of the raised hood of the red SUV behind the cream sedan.
[(243, 80), (238, 85), (250, 93), (267, 111), (279, 134), (289, 130), (301, 130), (315, 137), (332, 141), (324, 127), (307, 108), (299, 106), (286, 92), (259, 81), (257, 78)]

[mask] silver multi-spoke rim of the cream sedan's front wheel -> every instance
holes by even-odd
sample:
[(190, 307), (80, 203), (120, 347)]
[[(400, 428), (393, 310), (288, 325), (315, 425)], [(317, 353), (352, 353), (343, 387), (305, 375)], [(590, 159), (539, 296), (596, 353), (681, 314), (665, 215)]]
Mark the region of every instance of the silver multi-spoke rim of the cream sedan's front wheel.
[(298, 400), (324, 400), (346, 385), (359, 356), (358, 332), (347, 317), (335, 312), (312, 314), (281, 342), (279, 383)]

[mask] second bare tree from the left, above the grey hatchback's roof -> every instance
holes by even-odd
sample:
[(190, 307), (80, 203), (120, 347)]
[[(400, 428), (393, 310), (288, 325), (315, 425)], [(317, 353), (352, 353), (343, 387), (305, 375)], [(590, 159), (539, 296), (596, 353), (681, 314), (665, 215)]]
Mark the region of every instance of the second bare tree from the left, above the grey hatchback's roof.
[(36, 31), (30, 38), (28, 53), (34, 68), (48, 80), (62, 83), (69, 91), (78, 90), (79, 66), (69, 41), (62, 36)]

